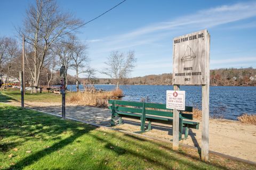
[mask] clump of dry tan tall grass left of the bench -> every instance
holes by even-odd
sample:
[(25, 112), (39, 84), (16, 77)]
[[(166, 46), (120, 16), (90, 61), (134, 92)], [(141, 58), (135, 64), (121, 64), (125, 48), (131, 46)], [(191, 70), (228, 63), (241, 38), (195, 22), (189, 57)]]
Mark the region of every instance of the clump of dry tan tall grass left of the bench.
[(77, 105), (107, 107), (109, 99), (118, 99), (122, 95), (123, 91), (120, 89), (98, 93), (78, 92), (71, 96), (68, 102)]

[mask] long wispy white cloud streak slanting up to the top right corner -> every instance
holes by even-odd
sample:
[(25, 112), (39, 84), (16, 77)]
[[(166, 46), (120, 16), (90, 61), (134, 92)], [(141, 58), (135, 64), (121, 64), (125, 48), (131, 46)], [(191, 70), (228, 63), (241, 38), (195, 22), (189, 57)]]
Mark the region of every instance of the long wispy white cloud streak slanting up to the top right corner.
[[(184, 31), (185, 29), (196, 30), (211, 28), (253, 16), (256, 16), (256, 2), (223, 5), (201, 10), (191, 15), (181, 16), (171, 21), (154, 23), (121, 35), (106, 37), (103, 38), (103, 40), (107, 41), (109, 46), (116, 45), (118, 48), (125, 48), (130, 47), (132, 44), (142, 45), (162, 39), (164, 36), (157, 35), (163, 35), (164, 32), (165, 35), (173, 36), (175, 32)], [(143, 36), (148, 36), (153, 33), (155, 36), (151, 36), (151, 38), (142, 41), (142, 39), (145, 39)], [(119, 46), (121, 42), (127, 42), (126, 46)]]

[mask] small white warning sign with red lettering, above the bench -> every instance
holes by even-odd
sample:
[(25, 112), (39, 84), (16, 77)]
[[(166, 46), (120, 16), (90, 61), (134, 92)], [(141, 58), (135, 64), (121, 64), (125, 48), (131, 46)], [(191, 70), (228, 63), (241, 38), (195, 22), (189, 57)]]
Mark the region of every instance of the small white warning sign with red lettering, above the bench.
[(185, 91), (166, 91), (166, 108), (185, 111)]

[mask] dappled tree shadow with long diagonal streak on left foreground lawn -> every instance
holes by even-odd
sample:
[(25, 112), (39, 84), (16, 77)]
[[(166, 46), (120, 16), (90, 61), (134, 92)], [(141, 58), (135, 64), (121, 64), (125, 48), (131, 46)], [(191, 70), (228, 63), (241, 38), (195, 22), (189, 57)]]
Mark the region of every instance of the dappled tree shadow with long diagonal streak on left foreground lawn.
[[(94, 130), (94, 126), (86, 124), (77, 124), (73, 121), (60, 120), (54, 116), (46, 114), (38, 114), (38, 112), (19, 107), (4, 106), (0, 107), (0, 137), (18, 137), (21, 141), (15, 142), (1, 142), (0, 151), (7, 152), (14, 147), (22, 145), (22, 143), (38, 140), (60, 140), (61, 134), (71, 131), (70, 137), (54, 143), (51, 147), (37, 151), (21, 160), (15, 165), (11, 165), (7, 169), (23, 169), (26, 166), (34, 164), (42, 157), (59, 150), (83, 134)], [(81, 129), (82, 127), (82, 129)], [(49, 138), (50, 137), (50, 138)], [(1, 140), (2, 138), (0, 138)]]

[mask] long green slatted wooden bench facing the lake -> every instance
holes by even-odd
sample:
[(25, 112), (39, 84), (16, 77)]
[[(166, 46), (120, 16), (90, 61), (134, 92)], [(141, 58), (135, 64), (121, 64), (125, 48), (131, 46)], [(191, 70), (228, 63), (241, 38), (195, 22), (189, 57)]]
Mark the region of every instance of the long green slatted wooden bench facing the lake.
[[(115, 117), (119, 117), (119, 124), (122, 124), (122, 117), (141, 120), (140, 132), (150, 131), (151, 122), (172, 124), (173, 110), (167, 109), (164, 104), (143, 103), (123, 100), (108, 100), (111, 109), (111, 126), (115, 125)], [(183, 112), (193, 112), (193, 107), (186, 106)], [(187, 114), (180, 111), (179, 114), (179, 139), (182, 138), (182, 130), (185, 127), (185, 138), (188, 137), (189, 128), (198, 129), (199, 123), (193, 122), (193, 114)], [(148, 128), (145, 129), (146, 121)]]

